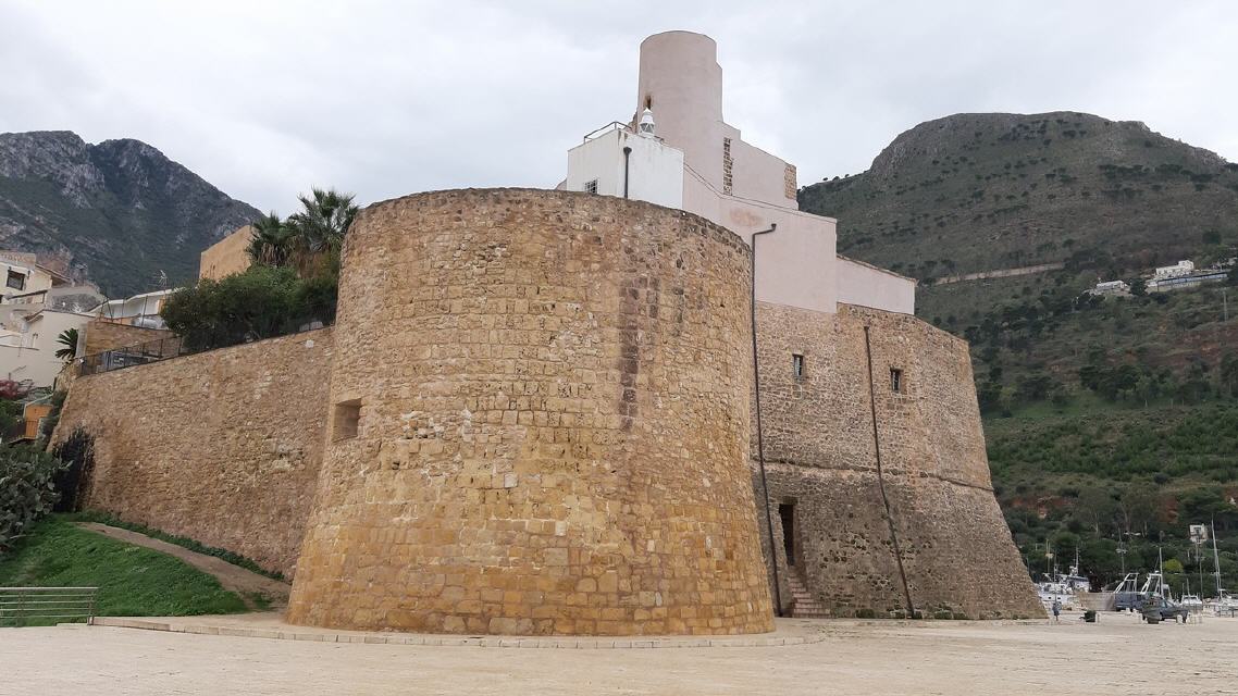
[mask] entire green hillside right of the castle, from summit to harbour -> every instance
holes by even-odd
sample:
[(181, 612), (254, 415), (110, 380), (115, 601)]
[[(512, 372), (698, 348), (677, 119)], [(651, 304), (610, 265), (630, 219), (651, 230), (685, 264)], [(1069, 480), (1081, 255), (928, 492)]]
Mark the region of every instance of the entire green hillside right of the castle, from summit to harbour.
[[(860, 175), (808, 186), (838, 249), (920, 280), (916, 313), (967, 338), (993, 482), (1029, 567), (1080, 550), (1099, 582), (1211, 557), (1238, 585), (1238, 272), (1096, 297), (1098, 280), (1238, 255), (1238, 165), (1145, 125), (1078, 113), (959, 114), (904, 133)], [(1060, 268), (950, 284), (1040, 264)], [(1047, 545), (1047, 546), (1046, 546)], [(1123, 551), (1119, 554), (1119, 550)], [(1201, 566), (1202, 562), (1202, 566)], [(1065, 566), (1065, 562), (1060, 562)], [(1171, 565), (1179, 570), (1177, 565)]]

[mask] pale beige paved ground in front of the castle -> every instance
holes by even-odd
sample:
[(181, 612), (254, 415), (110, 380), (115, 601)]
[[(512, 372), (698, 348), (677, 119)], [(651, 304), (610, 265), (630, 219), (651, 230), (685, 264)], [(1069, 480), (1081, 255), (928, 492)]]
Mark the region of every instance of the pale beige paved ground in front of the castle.
[(0, 630), (2, 694), (1238, 694), (1238, 619), (855, 625), (776, 648), (368, 645)]

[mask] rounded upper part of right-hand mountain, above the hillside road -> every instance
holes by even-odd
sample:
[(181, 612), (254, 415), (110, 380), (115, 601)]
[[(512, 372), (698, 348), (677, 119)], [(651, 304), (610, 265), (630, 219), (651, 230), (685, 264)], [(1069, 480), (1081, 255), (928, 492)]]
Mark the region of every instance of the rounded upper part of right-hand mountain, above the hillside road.
[(1089, 114), (956, 114), (805, 187), (839, 253), (917, 279), (1068, 263), (1125, 272), (1238, 237), (1238, 165)]

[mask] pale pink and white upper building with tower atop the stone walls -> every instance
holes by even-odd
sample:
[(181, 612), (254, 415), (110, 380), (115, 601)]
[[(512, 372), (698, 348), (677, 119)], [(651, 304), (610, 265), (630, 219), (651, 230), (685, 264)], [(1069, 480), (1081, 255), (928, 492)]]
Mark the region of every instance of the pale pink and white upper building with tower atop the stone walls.
[(915, 312), (915, 281), (839, 256), (837, 223), (796, 201), (795, 166), (722, 120), (722, 68), (708, 36), (669, 31), (640, 45), (636, 110), (568, 151), (560, 186), (680, 208), (730, 229), (756, 253), (756, 298), (820, 312), (839, 302)]

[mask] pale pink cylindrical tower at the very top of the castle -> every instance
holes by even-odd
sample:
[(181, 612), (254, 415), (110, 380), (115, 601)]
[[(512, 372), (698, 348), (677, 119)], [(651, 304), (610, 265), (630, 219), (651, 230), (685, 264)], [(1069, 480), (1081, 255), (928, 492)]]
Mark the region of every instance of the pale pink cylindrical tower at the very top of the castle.
[(640, 45), (636, 113), (654, 111), (657, 135), (683, 150), (687, 166), (722, 191), (722, 68), (703, 33), (666, 31)]

